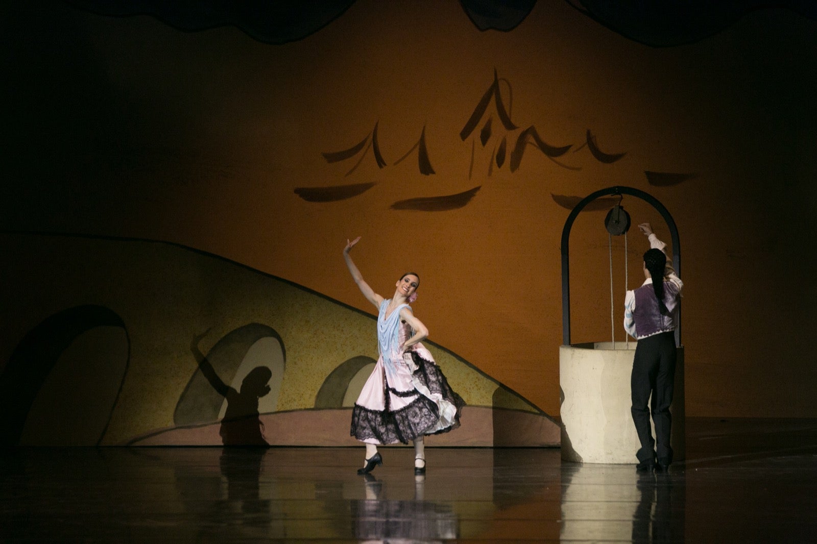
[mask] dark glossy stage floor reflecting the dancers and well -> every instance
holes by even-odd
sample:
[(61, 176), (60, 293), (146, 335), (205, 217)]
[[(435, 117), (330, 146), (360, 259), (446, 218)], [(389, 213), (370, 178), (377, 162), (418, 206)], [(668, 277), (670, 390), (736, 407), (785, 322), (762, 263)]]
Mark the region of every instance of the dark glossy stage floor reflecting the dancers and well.
[(12, 448), (0, 541), (817, 541), (817, 420), (686, 430), (650, 475), (557, 448), (426, 448), (425, 477), (382, 448), (368, 478), (363, 448)]

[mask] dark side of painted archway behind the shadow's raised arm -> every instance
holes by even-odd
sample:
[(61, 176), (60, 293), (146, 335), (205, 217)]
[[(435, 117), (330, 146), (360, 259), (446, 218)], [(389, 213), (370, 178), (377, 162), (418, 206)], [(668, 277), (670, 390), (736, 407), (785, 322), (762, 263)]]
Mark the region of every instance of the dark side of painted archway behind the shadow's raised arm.
[[(213, 372), (219, 377), (224, 377), (225, 381), (230, 383), (233, 381), (235, 372), (241, 366), (250, 347), (261, 338), (268, 337), (275, 338), (279, 342), (285, 366), (287, 354), (286, 350), (284, 350), (283, 340), (275, 329), (261, 323), (250, 323), (229, 332), (221, 340), (217, 341), (216, 345), (212, 347), (212, 350), (205, 357), (212, 366)], [(193, 366), (195, 363), (193, 359), (191, 355), (191, 369), (195, 368), (195, 370), (184, 392), (179, 397), (176, 410), (173, 412), (173, 422), (177, 426), (218, 421), (218, 412), (221, 410), (221, 404), (225, 399), (225, 390), (223, 388), (217, 390), (216, 387), (212, 386), (208, 377), (202, 372), (202, 368)], [(257, 420), (257, 414), (255, 419)]]

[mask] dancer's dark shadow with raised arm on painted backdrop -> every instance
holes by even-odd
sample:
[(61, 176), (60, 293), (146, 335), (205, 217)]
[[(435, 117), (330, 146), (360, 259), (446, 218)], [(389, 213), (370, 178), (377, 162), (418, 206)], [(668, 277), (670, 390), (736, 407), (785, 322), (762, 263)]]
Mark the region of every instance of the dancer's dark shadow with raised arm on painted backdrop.
[(225, 446), (268, 446), (264, 438), (264, 424), (258, 417), (258, 399), (270, 393), (270, 368), (259, 366), (248, 372), (241, 382), (241, 390), (235, 390), (221, 381), (216, 369), (199, 350), (199, 341), (210, 329), (190, 342), (190, 351), (199, 363), (199, 369), (210, 385), (227, 401), (221, 419), (221, 441)]

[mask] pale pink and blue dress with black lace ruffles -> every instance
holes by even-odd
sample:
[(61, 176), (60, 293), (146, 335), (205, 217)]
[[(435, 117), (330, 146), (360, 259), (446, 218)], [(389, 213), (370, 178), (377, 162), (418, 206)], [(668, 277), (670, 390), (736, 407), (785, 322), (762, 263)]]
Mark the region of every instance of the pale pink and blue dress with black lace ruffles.
[(400, 305), (386, 316), (389, 302), (380, 305), (380, 357), (352, 409), (350, 434), (369, 444), (408, 444), (418, 436), (456, 429), (465, 402), (451, 389), (425, 346), (418, 342), (400, 350), (412, 337), (400, 310), (411, 307)]

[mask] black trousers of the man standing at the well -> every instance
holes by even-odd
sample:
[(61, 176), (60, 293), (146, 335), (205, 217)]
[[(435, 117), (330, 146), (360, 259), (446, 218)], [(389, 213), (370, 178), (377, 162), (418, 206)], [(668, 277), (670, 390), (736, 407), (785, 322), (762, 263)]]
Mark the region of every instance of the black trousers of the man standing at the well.
[[(630, 409), (641, 441), (641, 449), (636, 453), (640, 462), (652, 459), (654, 451), (659, 462), (672, 462), (672, 446), (669, 444), (672, 415), (669, 407), (675, 385), (675, 361), (675, 332), (661, 332), (638, 341), (630, 377)], [(650, 408), (647, 408), (648, 402)], [(655, 440), (650, 430), (650, 409), (655, 424)]]

